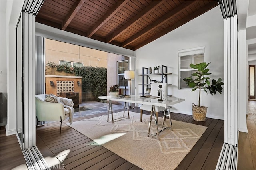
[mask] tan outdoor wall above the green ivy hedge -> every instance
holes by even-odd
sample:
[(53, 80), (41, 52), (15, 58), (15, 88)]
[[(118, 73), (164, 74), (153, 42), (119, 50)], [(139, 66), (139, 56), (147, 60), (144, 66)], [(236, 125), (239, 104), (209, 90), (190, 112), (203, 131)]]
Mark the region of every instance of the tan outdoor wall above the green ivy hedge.
[(60, 60), (84, 63), (84, 66), (107, 67), (107, 53), (104, 51), (46, 38), (45, 63), (52, 61), (59, 64)]

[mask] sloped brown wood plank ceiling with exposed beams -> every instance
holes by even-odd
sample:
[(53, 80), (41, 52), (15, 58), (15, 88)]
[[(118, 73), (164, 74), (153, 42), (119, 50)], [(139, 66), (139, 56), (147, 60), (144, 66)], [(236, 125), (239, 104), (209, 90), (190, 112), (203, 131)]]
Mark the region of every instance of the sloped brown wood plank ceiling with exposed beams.
[(215, 6), (217, 0), (45, 0), (36, 22), (136, 50)]

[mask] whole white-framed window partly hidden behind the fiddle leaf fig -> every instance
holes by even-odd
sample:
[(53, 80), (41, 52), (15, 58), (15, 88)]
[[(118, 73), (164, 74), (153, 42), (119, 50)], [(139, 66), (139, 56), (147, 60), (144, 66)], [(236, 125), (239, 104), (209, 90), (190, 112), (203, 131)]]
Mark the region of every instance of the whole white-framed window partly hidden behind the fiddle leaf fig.
[(178, 51), (179, 57), (179, 89), (192, 89), (189, 88), (184, 78), (190, 77), (192, 73), (196, 72), (196, 69), (190, 68), (190, 64), (199, 64), (204, 62), (204, 49), (205, 47), (198, 47), (192, 49), (184, 49)]

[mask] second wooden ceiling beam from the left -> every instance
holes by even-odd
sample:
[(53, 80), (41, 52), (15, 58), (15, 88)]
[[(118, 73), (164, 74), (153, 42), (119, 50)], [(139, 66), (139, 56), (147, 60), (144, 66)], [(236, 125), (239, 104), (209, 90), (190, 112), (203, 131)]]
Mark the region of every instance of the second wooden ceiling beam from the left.
[(113, 8), (111, 8), (102, 18), (100, 18), (92, 29), (90, 29), (88, 32), (88, 37), (90, 38), (97, 30), (99, 30), (100, 27), (103, 26), (112, 16), (114, 16), (114, 14), (116, 14), (116, 12), (118, 12), (118, 10), (120, 10), (127, 2), (128, 0), (118, 1)]

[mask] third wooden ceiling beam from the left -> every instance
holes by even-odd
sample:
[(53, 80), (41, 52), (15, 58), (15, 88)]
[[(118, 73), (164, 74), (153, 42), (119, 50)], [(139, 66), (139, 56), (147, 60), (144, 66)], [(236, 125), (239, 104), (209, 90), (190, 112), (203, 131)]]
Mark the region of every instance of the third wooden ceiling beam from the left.
[(128, 28), (130, 28), (130, 26), (132, 26), (133, 24), (138, 22), (142, 17), (144, 17), (147, 14), (149, 14), (150, 12), (152, 12), (152, 10), (156, 9), (162, 2), (164, 2), (164, 1), (157, 0), (157, 1), (152, 2), (149, 6), (147, 6), (144, 10), (142, 10), (139, 14), (137, 14), (135, 17), (133, 17), (129, 22), (127, 22), (120, 29), (118, 29), (118, 31), (116, 31), (114, 34), (110, 35), (107, 38), (107, 43), (112, 42), (116, 37), (118, 37), (120, 34), (125, 32)]

